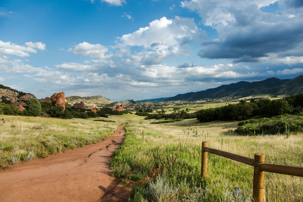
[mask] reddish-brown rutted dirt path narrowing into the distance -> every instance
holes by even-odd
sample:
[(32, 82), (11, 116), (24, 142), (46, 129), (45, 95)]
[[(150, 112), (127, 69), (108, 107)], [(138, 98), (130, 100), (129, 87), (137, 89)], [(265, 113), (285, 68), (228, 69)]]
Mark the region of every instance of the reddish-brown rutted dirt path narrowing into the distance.
[(115, 201), (108, 163), (124, 140), (123, 127), (97, 144), (0, 171), (0, 201)]

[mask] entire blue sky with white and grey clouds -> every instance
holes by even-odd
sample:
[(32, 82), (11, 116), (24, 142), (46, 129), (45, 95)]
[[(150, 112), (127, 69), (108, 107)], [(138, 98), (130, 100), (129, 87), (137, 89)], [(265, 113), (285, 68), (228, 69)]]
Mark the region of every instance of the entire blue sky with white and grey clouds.
[(38, 98), (170, 97), (302, 63), (301, 0), (0, 2), (0, 83)]

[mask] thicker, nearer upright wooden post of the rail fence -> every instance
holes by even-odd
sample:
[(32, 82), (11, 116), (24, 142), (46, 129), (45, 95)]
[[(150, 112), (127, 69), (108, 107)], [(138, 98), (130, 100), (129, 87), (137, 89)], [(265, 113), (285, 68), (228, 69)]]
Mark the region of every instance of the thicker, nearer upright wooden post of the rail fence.
[(254, 163), (254, 181), (252, 188), (252, 198), (255, 202), (263, 202), (264, 200), (264, 171), (260, 170), (261, 164), (264, 164), (265, 155), (256, 153)]

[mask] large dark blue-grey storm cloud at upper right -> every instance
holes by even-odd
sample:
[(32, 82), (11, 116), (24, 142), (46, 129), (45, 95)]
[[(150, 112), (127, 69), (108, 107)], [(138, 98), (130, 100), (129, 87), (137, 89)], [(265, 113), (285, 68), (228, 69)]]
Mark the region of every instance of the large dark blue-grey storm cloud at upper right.
[(260, 22), (238, 28), (219, 41), (205, 41), (201, 58), (231, 58), (238, 62), (256, 61), (268, 53), (289, 51), (303, 41), (303, 22)]

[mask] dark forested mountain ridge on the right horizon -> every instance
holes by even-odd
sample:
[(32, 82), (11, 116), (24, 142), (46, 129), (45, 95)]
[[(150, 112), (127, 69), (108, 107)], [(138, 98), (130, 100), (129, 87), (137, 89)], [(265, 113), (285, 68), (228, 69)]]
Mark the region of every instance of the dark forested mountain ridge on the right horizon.
[[(291, 95), (303, 92), (303, 75), (294, 79), (268, 78), (263, 81), (240, 81), (229, 85), (221, 85), (217, 88), (210, 88), (205, 91), (190, 92), (178, 94), (174, 97), (158, 98), (161, 101), (175, 100), (204, 100), (204, 99), (221, 99), (221, 98), (245, 98), (249, 96), (278, 96)], [(146, 99), (143, 101), (154, 101), (157, 99)], [(159, 101), (160, 101), (159, 100)]]

